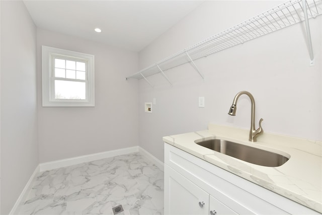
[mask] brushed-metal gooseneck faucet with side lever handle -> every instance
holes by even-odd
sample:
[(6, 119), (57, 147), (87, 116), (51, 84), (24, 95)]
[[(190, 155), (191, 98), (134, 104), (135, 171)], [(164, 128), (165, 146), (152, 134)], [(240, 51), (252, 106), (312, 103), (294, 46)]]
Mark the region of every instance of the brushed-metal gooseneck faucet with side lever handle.
[(249, 140), (252, 142), (256, 142), (257, 141), (257, 135), (261, 134), (264, 132), (263, 128), (262, 128), (262, 121), (263, 119), (260, 119), (260, 127), (258, 129), (255, 129), (255, 99), (253, 97), (253, 95), (250, 92), (247, 91), (240, 91), (239, 93), (237, 93), (235, 95), (235, 98), (232, 101), (232, 105), (230, 107), (230, 110), (228, 112), (229, 115), (231, 116), (235, 116), (236, 115), (236, 109), (237, 109), (237, 100), (239, 98), (239, 96), (241, 95), (248, 95), (251, 99), (252, 102), (252, 118), (251, 118), (251, 130), (250, 130), (250, 138)]

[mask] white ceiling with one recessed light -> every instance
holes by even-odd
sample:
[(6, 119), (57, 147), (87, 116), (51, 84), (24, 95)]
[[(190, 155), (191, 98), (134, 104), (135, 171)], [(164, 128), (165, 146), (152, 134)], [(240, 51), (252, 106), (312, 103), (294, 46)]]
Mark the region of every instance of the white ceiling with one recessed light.
[[(203, 1), (24, 1), (41, 29), (140, 51)], [(102, 29), (101, 33), (94, 31)]]

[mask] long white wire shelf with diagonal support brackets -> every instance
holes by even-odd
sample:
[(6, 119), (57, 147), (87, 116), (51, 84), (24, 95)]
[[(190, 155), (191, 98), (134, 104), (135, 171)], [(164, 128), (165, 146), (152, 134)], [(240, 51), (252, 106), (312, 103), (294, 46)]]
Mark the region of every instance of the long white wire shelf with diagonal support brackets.
[[(188, 62), (193, 63), (194, 60), (199, 59), (201, 57), (214, 54), (221, 50), (247, 42), (249, 40), (258, 38), (260, 36), (272, 33), (274, 31), (286, 28), (296, 23), (307, 21), (307, 19), (315, 18), (316, 16), (321, 14), (322, 14), (322, 0), (288, 1), (258, 16), (255, 16), (245, 22), (235, 25), (203, 41), (200, 41), (197, 44), (194, 44), (186, 49), (183, 49), (169, 57), (166, 57), (163, 60), (160, 60), (138, 71), (132, 76), (127, 77), (126, 79), (144, 78), (147, 81), (146, 77), (148, 76), (152, 76), (156, 73), (163, 73), (168, 69), (174, 68), (184, 63), (188, 63)], [(307, 19), (305, 19), (306, 17)], [(306, 27), (307, 27), (307, 30), (309, 31), (308, 23)], [(309, 32), (308, 32), (308, 35), (309, 35)], [(311, 56), (311, 60), (312, 60), (312, 56)], [(198, 70), (198, 68), (194, 63), (193, 65), (196, 68), (196, 70)], [(203, 78), (199, 70), (198, 72)], [(163, 75), (165, 76), (164, 73)]]

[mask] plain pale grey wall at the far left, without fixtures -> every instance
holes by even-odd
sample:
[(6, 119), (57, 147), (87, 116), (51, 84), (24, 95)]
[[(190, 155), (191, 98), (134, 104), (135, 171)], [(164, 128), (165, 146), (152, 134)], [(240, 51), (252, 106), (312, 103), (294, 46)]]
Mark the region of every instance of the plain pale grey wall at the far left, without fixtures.
[(36, 27), (21, 1), (1, 1), (1, 214), (38, 165)]

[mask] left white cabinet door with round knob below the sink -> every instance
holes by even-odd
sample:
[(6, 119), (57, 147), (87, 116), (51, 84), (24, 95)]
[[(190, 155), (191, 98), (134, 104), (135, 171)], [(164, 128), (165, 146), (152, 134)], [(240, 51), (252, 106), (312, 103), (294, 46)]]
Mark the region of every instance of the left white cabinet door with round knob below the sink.
[(209, 194), (168, 165), (165, 165), (165, 214), (209, 214)]

